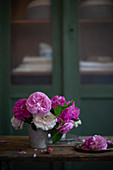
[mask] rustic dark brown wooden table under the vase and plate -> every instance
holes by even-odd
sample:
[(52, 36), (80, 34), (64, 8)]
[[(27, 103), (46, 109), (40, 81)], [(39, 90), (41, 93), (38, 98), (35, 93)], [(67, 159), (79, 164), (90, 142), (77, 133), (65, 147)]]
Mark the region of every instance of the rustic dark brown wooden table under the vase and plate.
[[(113, 138), (113, 137), (107, 137)], [(79, 142), (79, 141), (75, 141)], [(70, 144), (49, 144), (51, 153), (43, 153), (42, 149), (30, 147), (28, 136), (0, 136), (0, 162), (3, 164), (13, 161), (32, 162), (76, 162), (76, 161), (113, 161), (113, 151), (103, 153), (86, 153), (75, 149), (75, 142)], [(25, 153), (20, 153), (24, 151)], [(34, 155), (35, 154), (35, 155)]]

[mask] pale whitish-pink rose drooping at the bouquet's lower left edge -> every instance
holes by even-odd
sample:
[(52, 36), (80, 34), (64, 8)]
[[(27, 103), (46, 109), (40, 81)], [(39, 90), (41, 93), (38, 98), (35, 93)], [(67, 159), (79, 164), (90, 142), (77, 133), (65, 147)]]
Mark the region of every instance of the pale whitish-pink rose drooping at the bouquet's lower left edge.
[(22, 120), (18, 120), (18, 119), (15, 118), (14, 116), (13, 116), (12, 119), (11, 119), (11, 123), (12, 123), (12, 126), (13, 126), (16, 130), (23, 129), (23, 124), (24, 124), (24, 122), (23, 122)]

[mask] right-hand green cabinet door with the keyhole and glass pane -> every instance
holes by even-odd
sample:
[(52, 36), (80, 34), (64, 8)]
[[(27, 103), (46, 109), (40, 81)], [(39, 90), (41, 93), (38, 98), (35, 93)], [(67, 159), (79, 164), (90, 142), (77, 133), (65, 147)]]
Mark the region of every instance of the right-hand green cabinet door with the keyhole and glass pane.
[[(110, 67), (113, 58), (113, 32), (111, 31), (113, 20), (80, 18), (80, 12), (83, 12), (82, 2), (86, 1), (64, 1), (64, 94), (69, 99), (76, 97), (76, 104), (81, 110), (80, 119), (83, 124), (73, 129), (74, 134), (111, 135), (113, 133), (113, 83), (109, 76), (112, 77), (113, 73)], [(91, 17), (89, 14), (88, 16)], [(83, 72), (81, 61), (89, 63), (84, 58), (85, 53), (95, 55), (98, 62), (91, 62), (102, 65), (103, 69), (94, 70), (95, 67), (90, 67), (92, 70), (89, 71), (86, 66), (87, 71)], [(93, 57), (89, 59), (93, 60)], [(90, 78), (95, 80), (91, 83)], [(83, 80), (86, 83), (83, 83)]]

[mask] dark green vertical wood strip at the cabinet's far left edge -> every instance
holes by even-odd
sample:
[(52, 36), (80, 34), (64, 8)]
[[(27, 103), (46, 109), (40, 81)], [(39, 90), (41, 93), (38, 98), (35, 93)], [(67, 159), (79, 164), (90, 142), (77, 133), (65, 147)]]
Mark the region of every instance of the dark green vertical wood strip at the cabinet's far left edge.
[(9, 37), (10, 1), (0, 1), (0, 114), (1, 134), (9, 133)]

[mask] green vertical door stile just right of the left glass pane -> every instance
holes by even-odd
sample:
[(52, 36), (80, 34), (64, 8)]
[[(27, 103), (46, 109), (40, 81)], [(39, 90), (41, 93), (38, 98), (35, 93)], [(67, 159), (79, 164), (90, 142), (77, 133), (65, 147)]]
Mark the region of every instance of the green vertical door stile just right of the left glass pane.
[(62, 1), (52, 0), (53, 93), (62, 94)]

